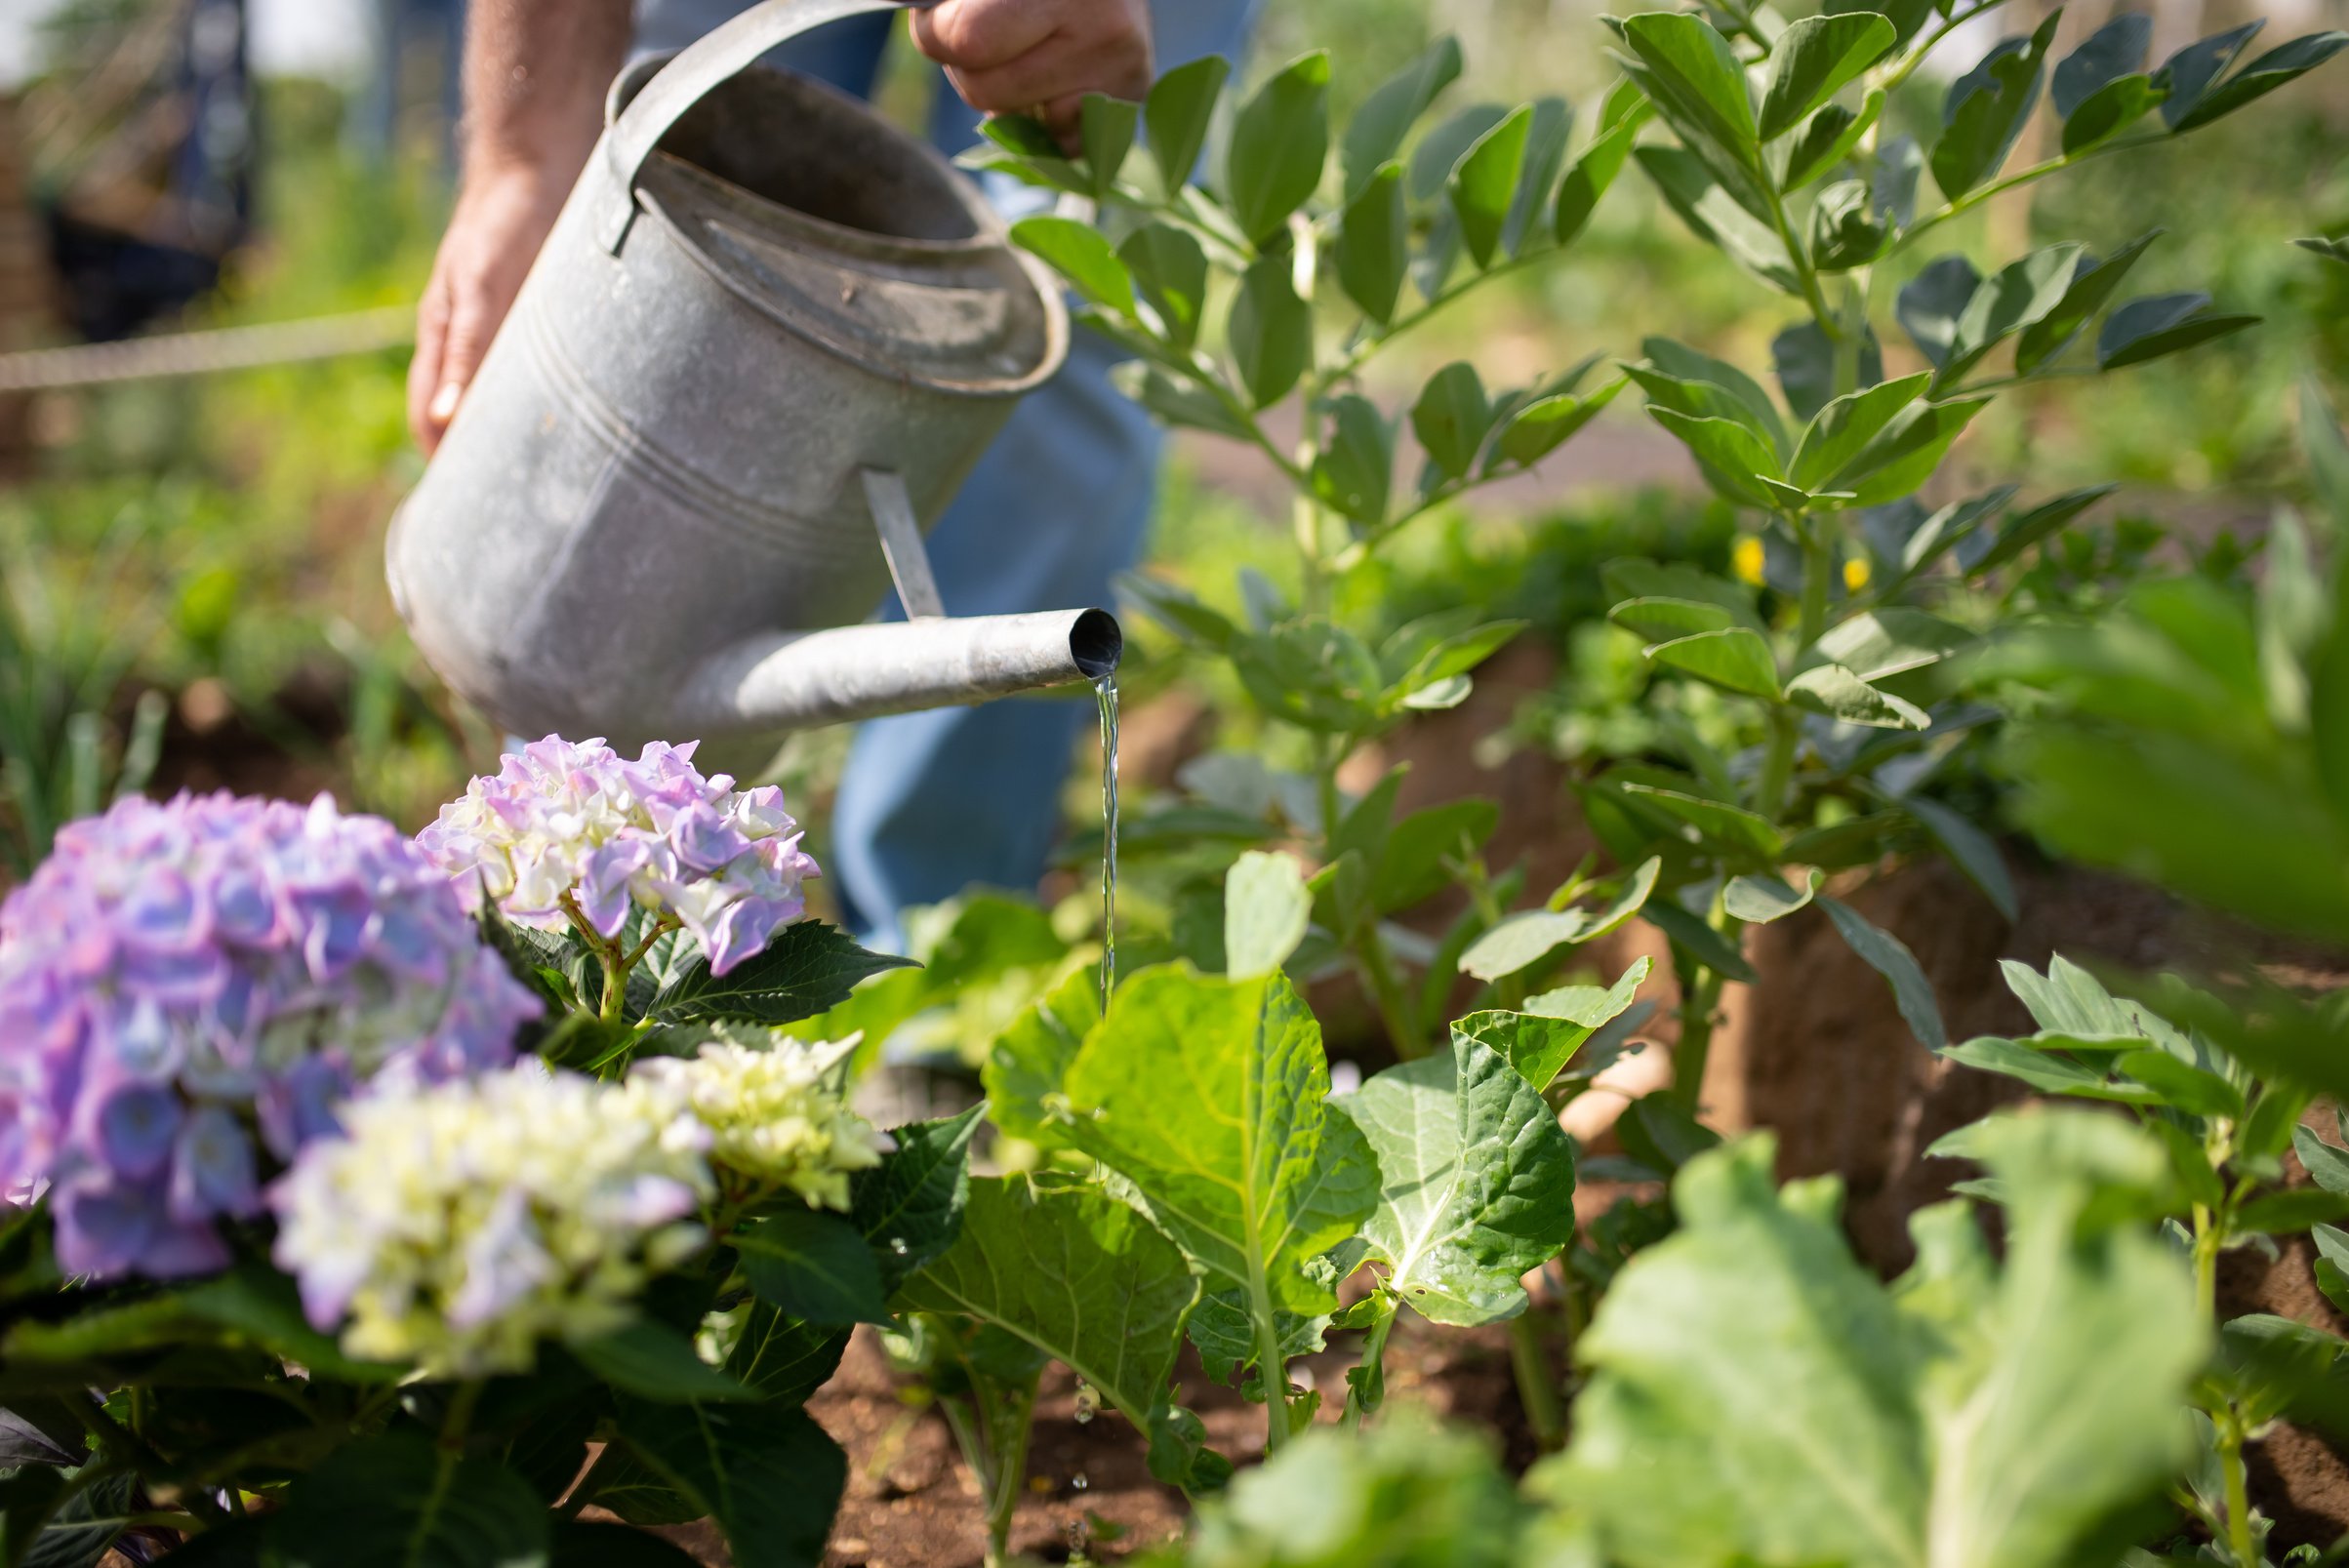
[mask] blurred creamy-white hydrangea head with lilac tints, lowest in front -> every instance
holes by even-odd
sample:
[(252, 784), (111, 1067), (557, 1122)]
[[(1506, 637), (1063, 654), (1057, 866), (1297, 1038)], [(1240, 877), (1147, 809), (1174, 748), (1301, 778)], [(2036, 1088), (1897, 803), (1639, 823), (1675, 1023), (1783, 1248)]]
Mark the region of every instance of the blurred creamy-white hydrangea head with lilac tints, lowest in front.
[(622, 1326), (700, 1249), (709, 1129), (653, 1084), (519, 1061), (343, 1113), (270, 1190), (277, 1265), (343, 1350), (437, 1378), (531, 1366)]

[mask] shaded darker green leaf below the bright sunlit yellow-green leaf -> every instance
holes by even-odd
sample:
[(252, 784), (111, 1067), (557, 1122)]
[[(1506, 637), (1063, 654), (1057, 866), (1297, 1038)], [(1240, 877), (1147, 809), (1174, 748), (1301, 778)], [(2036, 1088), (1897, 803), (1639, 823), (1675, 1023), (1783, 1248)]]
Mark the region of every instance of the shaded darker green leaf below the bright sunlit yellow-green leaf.
[[(996, 1324), (1102, 1392), (1135, 1430), (1165, 1427), (1167, 1385), (1198, 1277), (1174, 1242), (1097, 1185), (1027, 1176), (970, 1183), (963, 1235), (907, 1279), (897, 1305)], [(1179, 1481), (1179, 1453), (1156, 1455)]]

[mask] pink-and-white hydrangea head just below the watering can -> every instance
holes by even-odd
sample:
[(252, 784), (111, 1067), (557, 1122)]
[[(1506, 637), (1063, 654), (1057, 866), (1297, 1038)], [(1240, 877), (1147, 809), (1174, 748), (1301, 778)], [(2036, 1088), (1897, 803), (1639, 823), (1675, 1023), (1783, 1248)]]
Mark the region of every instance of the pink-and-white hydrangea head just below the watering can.
[(510, 753), (442, 807), (418, 843), (465, 899), (517, 925), (561, 930), (566, 901), (606, 941), (630, 904), (674, 913), (714, 974), (766, 948), (806, 911), (817, 876), (782, 791), (702, 777), (693, 746), (653, 742), (634, 763), (601, 739), (550, 735)]

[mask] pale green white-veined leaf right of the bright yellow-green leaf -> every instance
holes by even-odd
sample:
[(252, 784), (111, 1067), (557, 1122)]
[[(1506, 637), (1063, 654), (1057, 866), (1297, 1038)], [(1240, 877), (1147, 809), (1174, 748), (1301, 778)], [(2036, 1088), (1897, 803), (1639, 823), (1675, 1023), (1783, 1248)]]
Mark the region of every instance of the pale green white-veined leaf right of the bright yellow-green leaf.
[(1438, 1324), (1525, 1310), (1517, 1279), (1574, 1237), (1574, 1150), (1541, 1091), (1463, 1030), (1341, 1101), (1379, 1157), (1362, 1225), (1386, 1289)]

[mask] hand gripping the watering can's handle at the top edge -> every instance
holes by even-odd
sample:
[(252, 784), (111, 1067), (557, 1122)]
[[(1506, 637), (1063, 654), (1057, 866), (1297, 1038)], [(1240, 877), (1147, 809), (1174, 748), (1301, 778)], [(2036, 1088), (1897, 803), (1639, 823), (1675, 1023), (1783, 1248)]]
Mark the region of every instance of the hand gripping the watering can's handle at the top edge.
[(1071, 150), (1088, 92), (1151, 89), (1146, 0), (940, 0), (914, 12), (914, 42), (970, 108), (1043, 120)]

